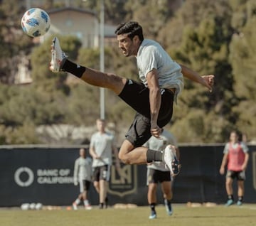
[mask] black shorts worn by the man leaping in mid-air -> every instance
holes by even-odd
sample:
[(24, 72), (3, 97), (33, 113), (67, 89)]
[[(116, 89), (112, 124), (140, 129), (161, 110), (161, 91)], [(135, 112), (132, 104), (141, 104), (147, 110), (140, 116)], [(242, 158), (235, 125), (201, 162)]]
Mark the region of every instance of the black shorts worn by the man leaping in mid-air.
[[(126, 139), (135, 147), (142, 146), (151, 137), (149, 88), (140, 82), (127, 80), (119, 97), (137, 112), (134, 122), (126, 134)], [(159, 127), (164, 127), (170, 122), (173, 104), (174, 93), (170, 90), (161, 89), (161, 107), (157, 120)]]

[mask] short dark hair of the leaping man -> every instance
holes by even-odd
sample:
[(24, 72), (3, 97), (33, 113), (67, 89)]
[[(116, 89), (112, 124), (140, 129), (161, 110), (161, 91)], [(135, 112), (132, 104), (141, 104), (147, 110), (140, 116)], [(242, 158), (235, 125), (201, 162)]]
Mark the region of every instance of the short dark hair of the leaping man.
[(142, 26), (139, 25), (138, 22), (135, 21), (129, 21), (126, 23), (121, 23), (119, 26), (117, 26), (116, 31), (114, 33), (118, 35), (127, 34), (127, 36), (132, 39), (134, 36), (139, 36), (139, 40), (143, 41), (143, 31)]

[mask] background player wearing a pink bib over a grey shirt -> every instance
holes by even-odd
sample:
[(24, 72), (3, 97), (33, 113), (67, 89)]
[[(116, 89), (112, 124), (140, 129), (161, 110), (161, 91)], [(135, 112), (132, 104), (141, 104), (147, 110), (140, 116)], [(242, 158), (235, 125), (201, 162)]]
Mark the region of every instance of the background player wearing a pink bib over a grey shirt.
[(226, 206), (234, 203), (233, 198), (233, 180), (238, 181), (238, 202), (237, 205), (242, 205), (242, 198), (245, 193), (244, 181), (245, 170), (249, 160), (248, 148), (245, 143), (239, 141), (237, 131), (230, 133), (230, 142), (225, 144), (223, 151), (223, 161), (220, 166), (220, 174), (225, 173), (225, 165), (228, 163), (228, 170), (226, 174), (225, 188), (228, 194), (228, 201)]

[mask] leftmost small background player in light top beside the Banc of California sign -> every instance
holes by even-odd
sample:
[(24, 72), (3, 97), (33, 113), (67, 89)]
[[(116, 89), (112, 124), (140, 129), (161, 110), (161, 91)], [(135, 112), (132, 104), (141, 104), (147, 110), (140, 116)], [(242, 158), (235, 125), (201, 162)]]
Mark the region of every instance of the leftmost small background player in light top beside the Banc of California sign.
[(85, 149), (80, 149), (79, 154), (80, 157), (75, 160), (74, 166), (74, 185), (80, 185), (80, 193), (73, 202), (73, 209), (78, 210), (78, 205), (83, 201), (85, 210), (91, 210), (92, 207), (87, 200), (87, 193), (92, 179), (92, 161), (91, 158), (86, 158)]

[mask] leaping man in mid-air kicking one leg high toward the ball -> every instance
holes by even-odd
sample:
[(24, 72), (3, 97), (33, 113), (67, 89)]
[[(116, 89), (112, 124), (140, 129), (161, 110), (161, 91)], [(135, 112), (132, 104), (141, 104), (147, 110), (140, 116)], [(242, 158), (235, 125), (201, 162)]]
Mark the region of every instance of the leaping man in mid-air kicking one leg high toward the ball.
[(141, 82), (73, 63), (61, 50), (58, 38), (53, 38), (50, 70), (70, 72), (90, 85), (110, 89), (137, 112), (119, 150), (122, 162), (164, 161), (171, 173), (176, 174), (178, 164), (173, 165), (174, 147), (156, 151), (143, 147), (143, 144), (151, 136), (159, 138), (161, 128), (170, 122), (173, 102), (183, 88), (183, 76), (211, 91), (214, 75), (201, 76), (176, 63), (159, 43), (144, 39), (142, 26), (137, 22), (122, 23), (115, 33), (124, 56), (137, 58)]

